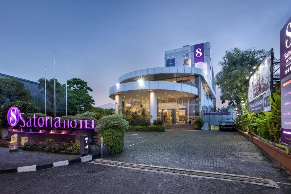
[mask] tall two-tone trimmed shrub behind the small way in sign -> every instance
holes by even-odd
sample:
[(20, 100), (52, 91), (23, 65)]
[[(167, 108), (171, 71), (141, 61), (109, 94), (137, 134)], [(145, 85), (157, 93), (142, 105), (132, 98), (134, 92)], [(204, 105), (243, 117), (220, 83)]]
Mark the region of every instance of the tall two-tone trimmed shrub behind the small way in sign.
[(107, 115), (97, 121), (99, 144), (103, 137), (104, 144), (108, 145), (111, 154), (122, 152), (124, 148), (124, 132), (128, 130), (128, 122), (122, 114)]

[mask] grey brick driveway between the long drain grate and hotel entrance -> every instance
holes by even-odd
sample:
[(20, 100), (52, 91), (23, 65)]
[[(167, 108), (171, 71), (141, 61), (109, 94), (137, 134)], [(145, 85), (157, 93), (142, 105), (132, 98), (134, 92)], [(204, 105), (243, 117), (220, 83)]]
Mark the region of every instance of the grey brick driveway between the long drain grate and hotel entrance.
[[(155, 134), (164, 135), (126, 147), (122, 154), (106, 159), (291, 182), (281, 165), (239, 132), (166, 130)], [(259, 157), (248, 157), (246, 153), (257, 153)]]

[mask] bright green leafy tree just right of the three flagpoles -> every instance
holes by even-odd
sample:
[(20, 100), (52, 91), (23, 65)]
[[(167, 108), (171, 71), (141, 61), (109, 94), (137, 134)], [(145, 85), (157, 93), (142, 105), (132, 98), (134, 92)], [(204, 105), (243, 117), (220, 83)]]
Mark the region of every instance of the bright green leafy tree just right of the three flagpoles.
[(95, 100), (89, 95), (89, 92), (93, 90), (87, 85), (87, 82), (80, 78), (72, 78), (68, 80), (67, 84), (69, 112), (77, 114), (92, 110)]

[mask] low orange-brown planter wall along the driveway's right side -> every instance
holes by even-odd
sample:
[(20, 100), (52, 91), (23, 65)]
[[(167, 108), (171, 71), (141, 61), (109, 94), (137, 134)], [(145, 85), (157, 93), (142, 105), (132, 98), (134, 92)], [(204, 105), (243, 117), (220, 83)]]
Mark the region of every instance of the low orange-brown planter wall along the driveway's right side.
[[(248, 138), (248, 139), (251, 138), (251, 136), (248, 133), (241, 131), (239, 129), (238, 129), (238, 131), (246, 138)], [(291, 155), (287, 154), (287, 152), (285, 152), (285, 150), (280, 149), (280, 148), (278, 148), (274, 145), (271, 145), (269, 143), (266, 143), (255, 136), (252, 136), (251, 140), (255, 145), (257, 145), (262, 150), (267, 152), (267, 154), (269, 154), (269, 156), (271, 156), (274, 160), (276, 160), (284, 168), (286, 168), (289, 172), (291, 172)]]

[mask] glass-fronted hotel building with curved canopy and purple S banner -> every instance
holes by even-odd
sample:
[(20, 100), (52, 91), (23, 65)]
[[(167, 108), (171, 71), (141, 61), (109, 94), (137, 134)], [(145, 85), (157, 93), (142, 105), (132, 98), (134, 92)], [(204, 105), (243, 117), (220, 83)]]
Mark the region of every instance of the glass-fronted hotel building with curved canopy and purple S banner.
[(210, 43), (165, 51), (164, 59), (164, 67), (120, 76), (109, 89), (116, 113), (141, 113), (145, 108), (151, 123), (193, 124), (196, 117), (209, 123), (203, 113), (213, 111), (216, 99)]

